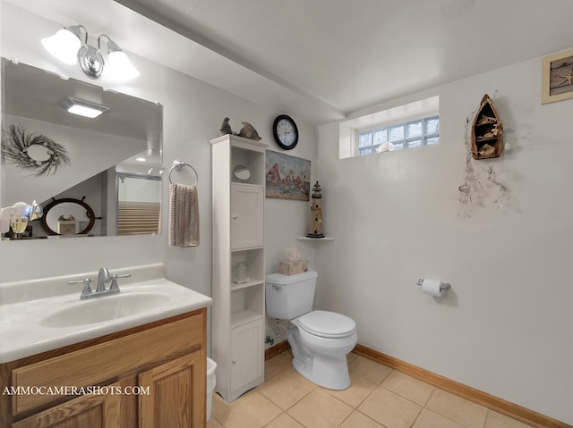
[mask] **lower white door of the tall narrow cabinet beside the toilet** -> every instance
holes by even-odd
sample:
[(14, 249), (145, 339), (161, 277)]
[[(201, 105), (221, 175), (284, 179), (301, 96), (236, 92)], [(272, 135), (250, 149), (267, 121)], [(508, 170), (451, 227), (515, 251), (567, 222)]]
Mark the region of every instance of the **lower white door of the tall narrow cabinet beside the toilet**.
[(262, 319), (231, 330), (231, 392), (262, 376)]

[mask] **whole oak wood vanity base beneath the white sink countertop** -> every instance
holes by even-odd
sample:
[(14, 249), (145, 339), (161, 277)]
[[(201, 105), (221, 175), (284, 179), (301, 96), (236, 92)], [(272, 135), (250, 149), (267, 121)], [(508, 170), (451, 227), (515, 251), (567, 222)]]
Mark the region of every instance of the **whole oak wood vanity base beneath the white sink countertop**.
[(201, 308), (0, 365), (0, 426), (205, 426), (206, 320)]

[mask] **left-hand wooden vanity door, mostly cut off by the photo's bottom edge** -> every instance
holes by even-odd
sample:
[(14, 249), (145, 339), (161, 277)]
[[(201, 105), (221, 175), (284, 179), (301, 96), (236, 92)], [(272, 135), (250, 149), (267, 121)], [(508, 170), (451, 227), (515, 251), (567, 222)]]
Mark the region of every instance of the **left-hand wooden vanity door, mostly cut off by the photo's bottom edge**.
[(15, 422), (12, 428), (120, 428), (120, 402), (120, 394), (84, 395)]

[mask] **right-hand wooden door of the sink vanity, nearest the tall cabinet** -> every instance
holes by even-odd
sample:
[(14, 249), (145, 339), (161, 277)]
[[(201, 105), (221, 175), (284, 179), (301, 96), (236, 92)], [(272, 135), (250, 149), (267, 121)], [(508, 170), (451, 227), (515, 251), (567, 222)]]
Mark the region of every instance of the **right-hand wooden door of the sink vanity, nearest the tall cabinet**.
[(198, 351), (139, 374), (140, 428), (199, 428), (206, 424), (207, 357)]

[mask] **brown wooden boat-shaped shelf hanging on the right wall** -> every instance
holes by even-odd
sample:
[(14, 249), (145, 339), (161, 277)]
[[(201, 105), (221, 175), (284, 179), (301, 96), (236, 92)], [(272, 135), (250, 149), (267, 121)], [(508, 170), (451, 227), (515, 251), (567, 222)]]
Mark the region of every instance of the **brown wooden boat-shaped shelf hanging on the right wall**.
[(492, 98), (485, 94), (472, 125), (474, 159), (500, 157), (503, 151), (503, 125)]

